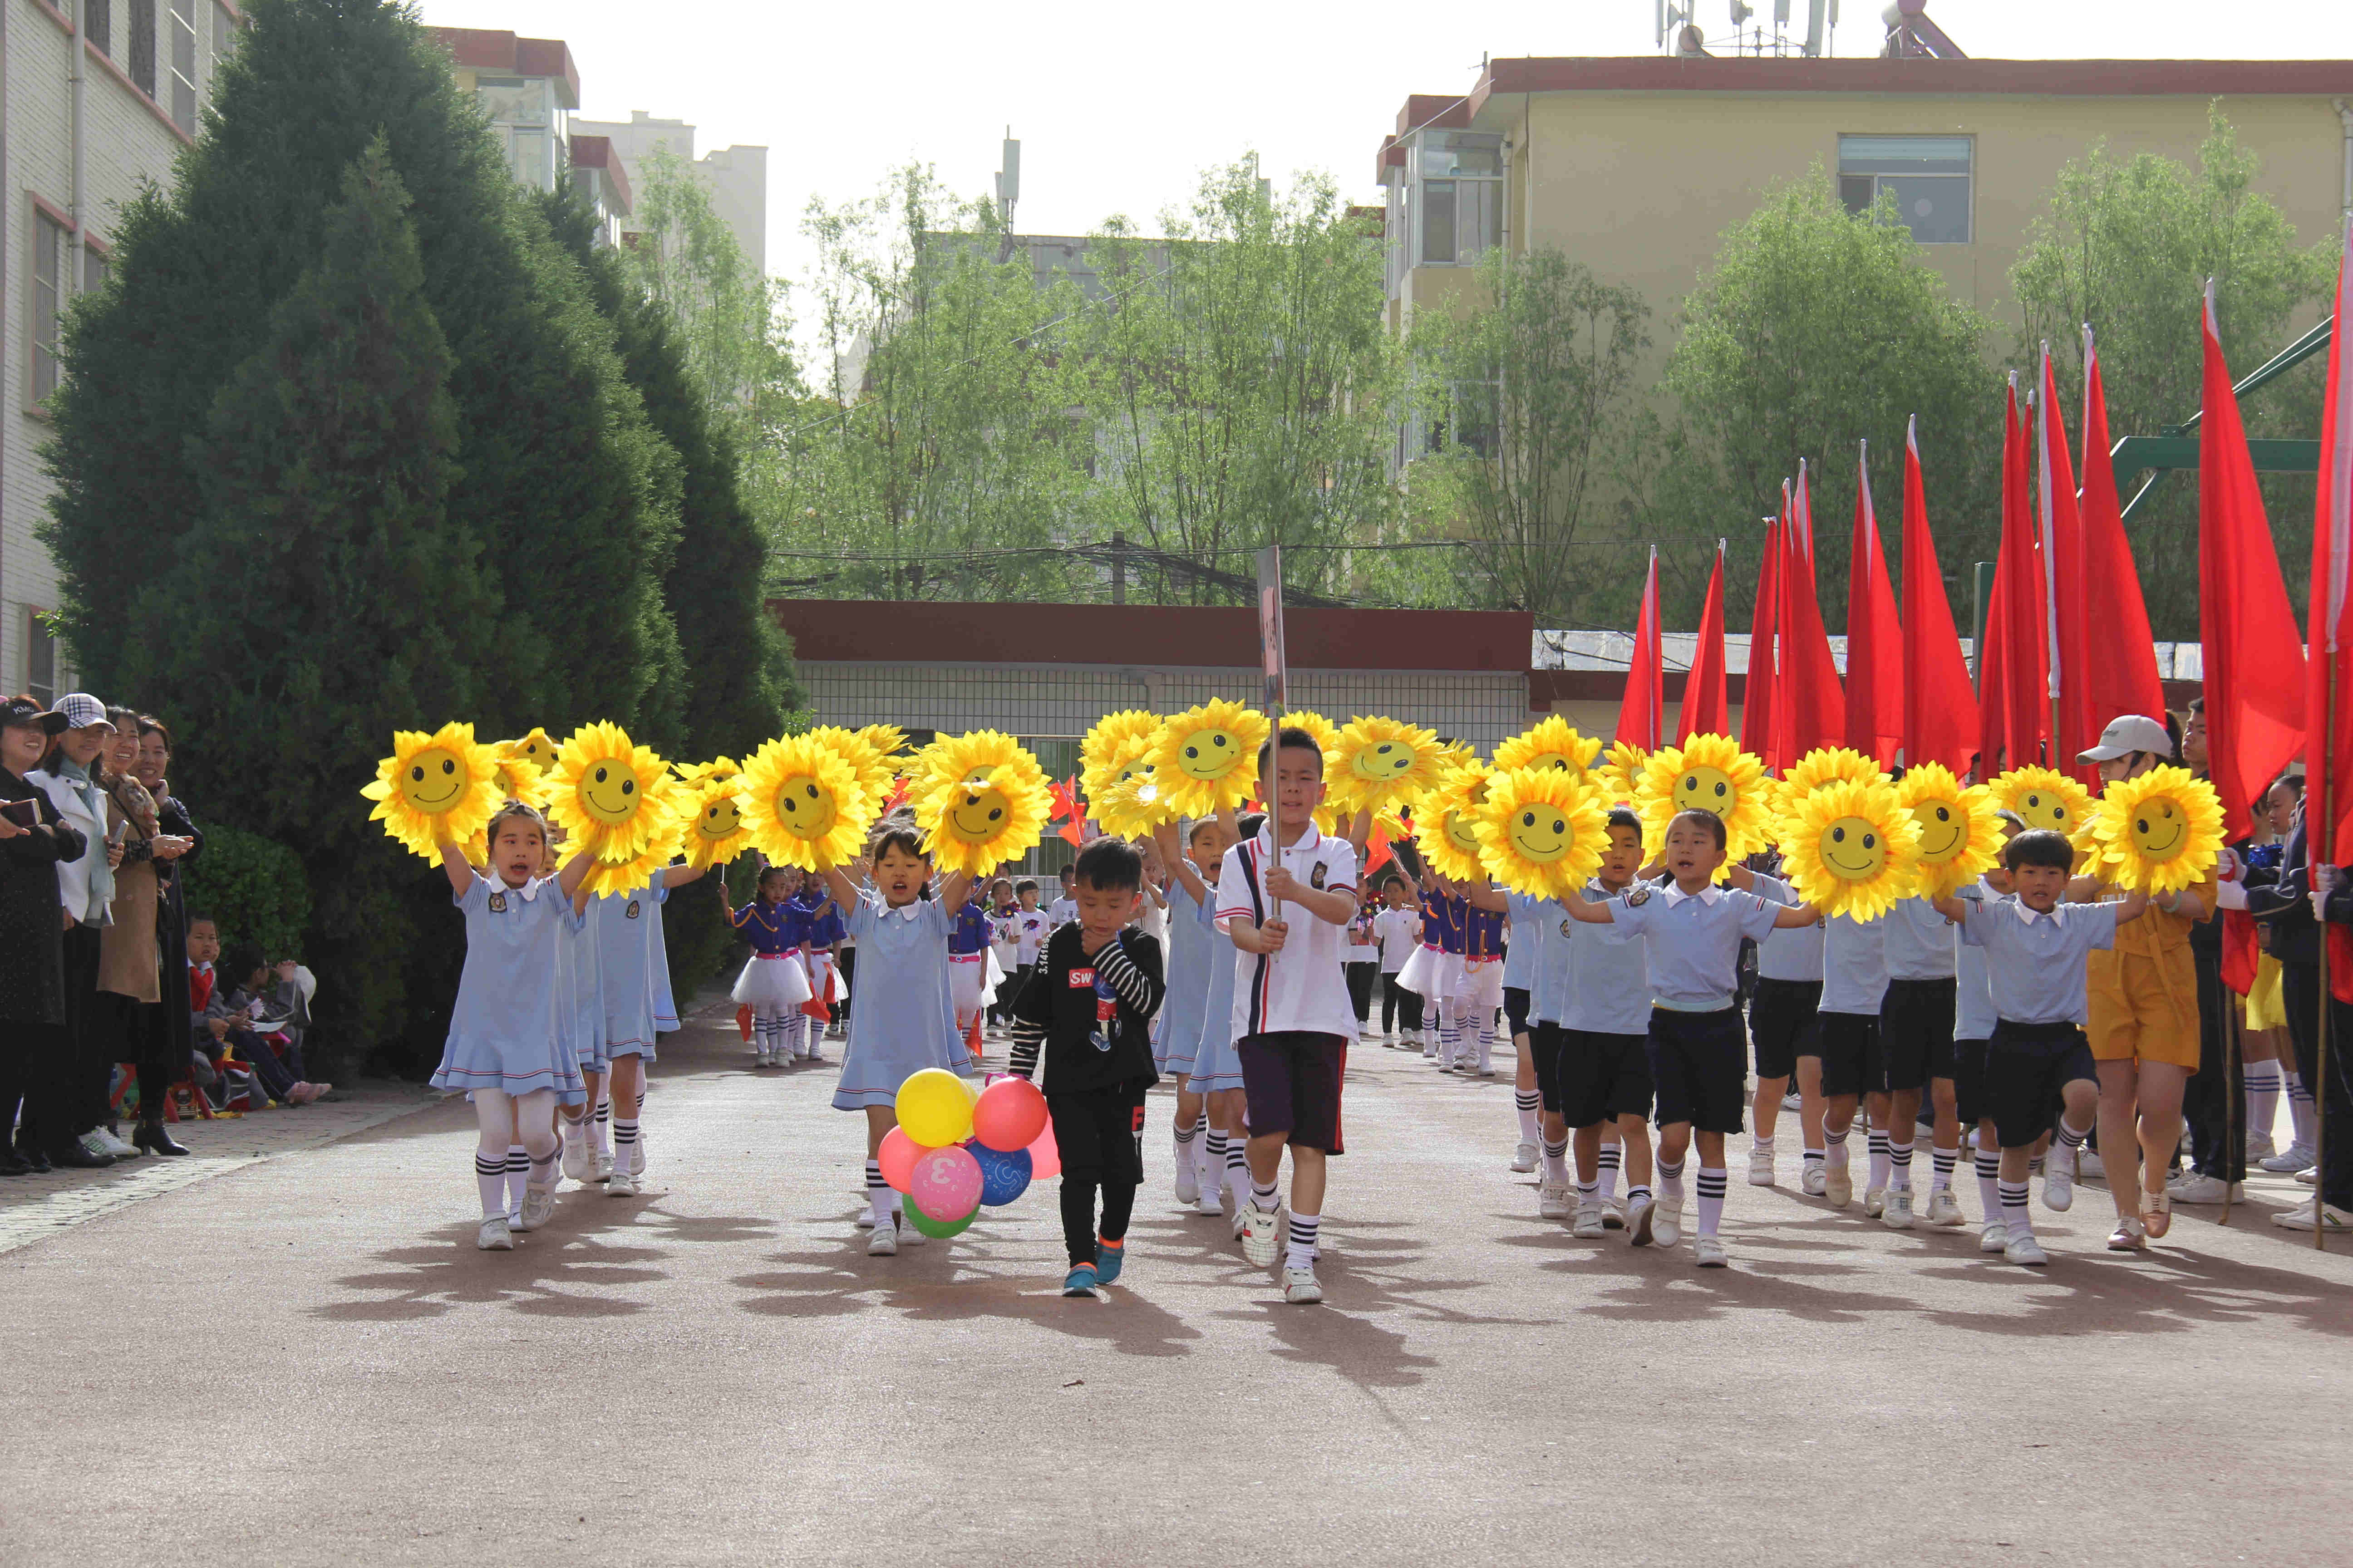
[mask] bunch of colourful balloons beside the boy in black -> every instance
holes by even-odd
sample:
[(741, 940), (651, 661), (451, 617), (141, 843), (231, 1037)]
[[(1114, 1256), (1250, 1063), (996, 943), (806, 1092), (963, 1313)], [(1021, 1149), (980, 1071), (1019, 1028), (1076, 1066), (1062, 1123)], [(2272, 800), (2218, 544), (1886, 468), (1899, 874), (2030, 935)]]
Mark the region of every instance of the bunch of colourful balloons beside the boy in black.
[(882, 1135), (882, 1180), (906, 1194), (908, 1225), (960, 1234), (981, 1206), (1012, 1204), (1031, 1180), (1061, 1175), (1045, 1095), (1028, 1079), (972, 1088), (944, 1067), (899, 1086), (899, 1126)]

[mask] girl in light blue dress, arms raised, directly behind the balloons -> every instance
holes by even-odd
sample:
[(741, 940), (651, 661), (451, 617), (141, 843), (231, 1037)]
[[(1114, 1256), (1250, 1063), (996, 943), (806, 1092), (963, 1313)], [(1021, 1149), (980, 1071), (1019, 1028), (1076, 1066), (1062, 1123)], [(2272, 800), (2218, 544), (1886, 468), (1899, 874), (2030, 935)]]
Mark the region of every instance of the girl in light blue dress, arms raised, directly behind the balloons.
[(861, 889), (840, 867), (826, 867), (833, 900), (849, 910), (859, 943), (859, 1006), (849, 1013), (842, 1081), (833, 1110), (866, 1112), (866, 1206), (873, 1227), (866, 1251), (887, 1258), (922, 1241), (901, 1225), (899, 1194), (882, 1180), (882, 1138), (899, 1126), (899, 1086), (925, 1067), (969, 1077), (972, 1053), (955, 1032), (948, 983), (948, 910), (965, 903), (972, 879), (948, 877), (925, 898), (932, 856), (906, 816), (887, 816), (868, 839), (873, 886)]

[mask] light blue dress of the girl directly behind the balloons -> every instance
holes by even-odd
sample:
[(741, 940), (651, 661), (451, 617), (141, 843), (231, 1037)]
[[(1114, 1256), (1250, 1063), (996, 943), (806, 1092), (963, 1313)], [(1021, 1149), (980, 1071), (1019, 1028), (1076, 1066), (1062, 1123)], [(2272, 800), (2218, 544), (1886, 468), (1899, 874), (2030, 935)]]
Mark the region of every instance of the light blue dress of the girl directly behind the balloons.
[(880, 893), (859, 896), (859, 907), (849, 912), (849, 936), (859, 943), (859, 1004), (849, 1013), (833, 1110), (896, 1105), (899, 1086), (925, 1067), (972, 1072), (965, 1037), (955, 1032), (948, 926), (936, 898), (892, 910)]

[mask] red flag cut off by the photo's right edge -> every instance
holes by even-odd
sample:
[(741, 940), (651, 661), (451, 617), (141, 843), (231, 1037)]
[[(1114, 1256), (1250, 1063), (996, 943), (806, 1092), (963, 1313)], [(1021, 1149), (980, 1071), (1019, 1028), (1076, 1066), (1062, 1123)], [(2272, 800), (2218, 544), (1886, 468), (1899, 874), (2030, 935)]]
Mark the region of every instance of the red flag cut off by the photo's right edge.
[[(2313, 498), (2313, 585), (2304, 712), (2304, 839), (2313, 865), (2344, 865), (2353, 856), (2353, 357), (2344, 353), (2353, 324), (2353, 221), (2346, 223), (2337, 268), (2337, 315), (2329, 334), (2329, 378), (2320, 393), (2320, 491)], [(2212, 703), (2209, 703), (2212, 708)], [(2209, 719), (2212, 724), (2212, 719)], [(2212, 729), (2207, 731), (2212, 733)], [(2353, 1001), (2353, 926), (2329, 924), (2329, 990)]]

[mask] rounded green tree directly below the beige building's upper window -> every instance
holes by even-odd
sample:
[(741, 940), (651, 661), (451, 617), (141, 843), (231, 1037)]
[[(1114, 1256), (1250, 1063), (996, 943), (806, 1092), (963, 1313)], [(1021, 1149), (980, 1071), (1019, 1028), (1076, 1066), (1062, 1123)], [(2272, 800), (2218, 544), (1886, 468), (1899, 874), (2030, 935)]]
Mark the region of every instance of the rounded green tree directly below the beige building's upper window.
[[(1904, 428), (1920, 418), (1920, 468), (1946, 562), (1984, 557), (2000, 524), (2000, 378), (1986, 364), (1988, 322), (1920, 263), (1892, 197), (1849, 214), (1817, 167), (1767, 193), (1725, 230), (1715, 261), (1682, 303), (1682, 331), (1652, 414), (1626, 444), (1628, 534), (1671, 541), (1697, 614), (1706, 550), (1734, 538), (1725, 611), (1755, 592), (1762, 524), (1781, 480), (1812, 458), (1814, 562), (1824, 618), (1845, 621), (1857, 440), (1871, 442), (1873, 501), (1894, 520)], [(1901, 529), (1885, 527), (1889, 569)], [(1746, 545), (1746, 548), (1744, 548)], [(1739, 581), (1734, 581), (1739, 578)], [(1680, 595), (1678, 595), (1680, 597)]]

